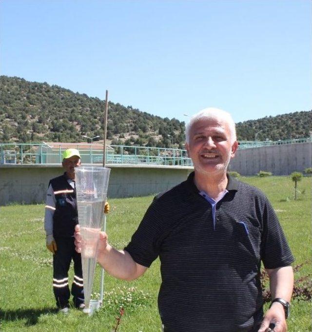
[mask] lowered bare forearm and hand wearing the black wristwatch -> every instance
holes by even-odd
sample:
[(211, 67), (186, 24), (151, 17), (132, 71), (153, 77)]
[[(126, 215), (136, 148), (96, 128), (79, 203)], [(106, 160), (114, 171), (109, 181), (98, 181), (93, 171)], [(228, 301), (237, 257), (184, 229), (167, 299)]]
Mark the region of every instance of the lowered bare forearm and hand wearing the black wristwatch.
[[(292, 266), (283, 266), (266, 269), (270, 279), (272, 300), (279, 297), (290, 302), (293, 288)], [(284, 307), (279, 302), (274, 302), (266, 312), (258, 332), (265, 332), (269, 325), (275, 324), (274, 332), (287, 331)]]

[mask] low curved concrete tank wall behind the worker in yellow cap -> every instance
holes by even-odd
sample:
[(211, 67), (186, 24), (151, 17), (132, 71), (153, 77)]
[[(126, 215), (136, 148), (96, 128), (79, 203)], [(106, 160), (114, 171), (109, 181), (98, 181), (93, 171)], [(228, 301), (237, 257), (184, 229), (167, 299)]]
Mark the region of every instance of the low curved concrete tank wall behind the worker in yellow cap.
[[(159, 193), (184, 181), (193, 170), (192, 167), (154, 165), (107, 167), (111, 168), (109, 198)], [(62, 172), (59, 165), (1, 165), (0, 205), (43, 202), (49, 180)]]

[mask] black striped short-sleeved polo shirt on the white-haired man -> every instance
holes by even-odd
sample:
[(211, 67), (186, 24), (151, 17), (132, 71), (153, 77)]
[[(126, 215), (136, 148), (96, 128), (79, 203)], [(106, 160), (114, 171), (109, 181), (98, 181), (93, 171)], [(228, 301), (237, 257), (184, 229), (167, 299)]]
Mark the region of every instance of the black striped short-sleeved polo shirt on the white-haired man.
[(199, 195), (194, 173), (148, 208), (127, 250), (150, 266), (159, 256), (158, 308), (170, 332), (241, 332), (261, 320), (259, 271), (289, 266), (292, 253), (258, 189), (228, 177), (216, 204)]

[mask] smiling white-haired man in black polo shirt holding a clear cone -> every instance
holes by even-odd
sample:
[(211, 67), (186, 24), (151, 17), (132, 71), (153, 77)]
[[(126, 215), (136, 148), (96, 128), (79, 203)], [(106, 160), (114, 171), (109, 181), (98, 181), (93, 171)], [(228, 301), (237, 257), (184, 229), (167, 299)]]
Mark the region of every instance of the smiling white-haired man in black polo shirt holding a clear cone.
[[(264, 332), (270, 323), (287, 330), (292, 253), (264, 194), (227, 175), (237, 146), (229, 113), (194, 115), (186, 148), (195, 172), (156, 196), (124, 250), (100, 236), (98, 262), (117, 278), (138, 278), (159, 256), (165, 332)], [(261, 261), (273, 297), (264, 317)]]

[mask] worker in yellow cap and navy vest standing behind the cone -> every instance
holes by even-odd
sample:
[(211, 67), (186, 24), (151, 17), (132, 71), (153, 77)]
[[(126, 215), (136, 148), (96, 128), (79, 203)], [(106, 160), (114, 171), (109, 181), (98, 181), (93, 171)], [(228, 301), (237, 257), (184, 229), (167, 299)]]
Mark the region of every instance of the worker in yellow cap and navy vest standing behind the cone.
[[(69, 310), (70, 290), (68, 270), (74, 261), (74, 280), (71, 288), (75, 308), (84, 308), (81, 255), (75, 251), (74, 230), (78, 224), (75, 186), (75, 167), (80, 166), (80, 154), (67, 149), (62, 155), (65, 173), (50, 180), (45, 205), (44, 229), (46, 246), (53, 253), (53, 291), (60, 311)], [(105, 203), (104, 212), (108, 213)]]

